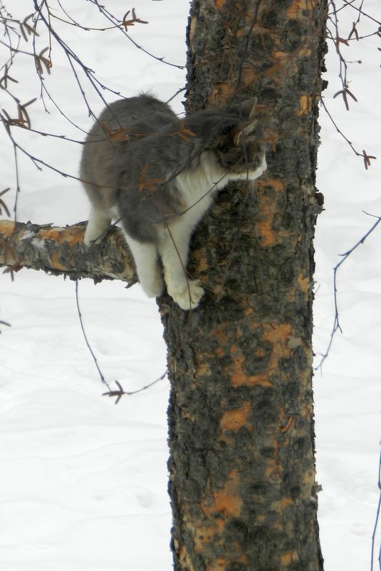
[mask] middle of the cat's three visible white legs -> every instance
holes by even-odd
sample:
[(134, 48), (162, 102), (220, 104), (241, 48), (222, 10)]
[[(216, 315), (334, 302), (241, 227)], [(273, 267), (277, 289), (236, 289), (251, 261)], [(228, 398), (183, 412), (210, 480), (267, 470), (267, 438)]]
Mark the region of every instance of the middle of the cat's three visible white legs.
[(157, 259), (157, 248), (150, 242), (139, 242), (123, 230), (126, 242), (135, 259), (137, 277), (148, 297), (158, 297), (164, 289), (162, 272)]

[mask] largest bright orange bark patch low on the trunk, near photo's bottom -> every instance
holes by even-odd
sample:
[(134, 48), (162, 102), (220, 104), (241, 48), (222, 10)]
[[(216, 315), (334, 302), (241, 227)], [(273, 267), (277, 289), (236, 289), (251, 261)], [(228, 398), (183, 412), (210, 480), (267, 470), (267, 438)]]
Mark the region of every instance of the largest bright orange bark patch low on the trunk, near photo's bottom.
[[(239, 495), (239, 471), (231, 470), (227, 475), (224, 488), (214, 492), (212, 503), (202, 503), (201, 508), (207, 518), (216, 513), (224, 513), (234, 518), (241, 514), (242, 499)], [(217, 521), (217, 520), (216, 520)]]

